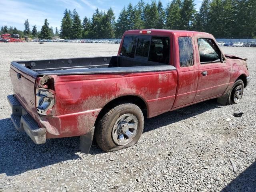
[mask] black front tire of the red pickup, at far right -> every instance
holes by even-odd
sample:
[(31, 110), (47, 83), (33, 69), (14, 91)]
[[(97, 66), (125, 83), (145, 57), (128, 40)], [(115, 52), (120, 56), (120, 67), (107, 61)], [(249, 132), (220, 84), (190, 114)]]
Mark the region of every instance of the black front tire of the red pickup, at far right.
[[(240, 88), (241, 88), (241, 91), (240, 91)], [(239, 90), (238, 90), (238, 89), (239, 89)], [(235, 98), (236, 98), (237, 91), (240, 92), (240, 94), (239, 94), (239, 100), (236, 100), (236, 99), (235, 99)], [(237, 80), (237, 81), (234, 83), (234, 85), (233, 85), (233, 87), (232, 87), (232, 89), (231, 89), (231, 91), (230, 91), (230, 93), (229, 93), (229, 95), (228, 95), (227, 104), (228, 104), (228, 105), (229, 105), (229, 104), (237, 104), (238, 102), (240, 102), (240, 100), (241, 100), (243, 94), (244, 94), (244, 82), (243, 82), (241, 79), (239, 79), (239, 80)]]

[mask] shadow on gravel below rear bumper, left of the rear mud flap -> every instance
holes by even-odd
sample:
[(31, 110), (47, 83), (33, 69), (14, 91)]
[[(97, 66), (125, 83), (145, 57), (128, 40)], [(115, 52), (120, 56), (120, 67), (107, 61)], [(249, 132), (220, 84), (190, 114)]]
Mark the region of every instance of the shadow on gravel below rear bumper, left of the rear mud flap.
[(80, 159), (79, 137), (46, 140), (36, 145), (26, 134), (17, 131), (10, 118), (0, 120), (0, 174), (7, 176)]

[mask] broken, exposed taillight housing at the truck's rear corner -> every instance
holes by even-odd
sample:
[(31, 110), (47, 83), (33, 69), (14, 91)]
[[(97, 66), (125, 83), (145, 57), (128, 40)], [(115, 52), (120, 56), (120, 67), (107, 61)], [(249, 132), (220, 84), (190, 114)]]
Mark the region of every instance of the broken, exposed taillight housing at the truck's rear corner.
[(53, 115), (54, 90), (36, 88), (36, 110), (40, 115)]

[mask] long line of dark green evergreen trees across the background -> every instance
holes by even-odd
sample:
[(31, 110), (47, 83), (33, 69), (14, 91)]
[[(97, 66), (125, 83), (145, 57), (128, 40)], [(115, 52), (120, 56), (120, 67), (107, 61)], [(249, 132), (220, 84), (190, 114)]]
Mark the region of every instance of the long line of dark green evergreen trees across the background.
[[(31, 34), (43, 38), (58, 34), (66, 39), (121, 38), (126, 30), (173, 29), (208, 32), (216, 38), (256, 38), (255, 0), (203, 0), (199, 11), (195, 6), (194, 0), (172, 0), (166, 7), (160, 0), (150, 3), (139, 0), (136, 5), (124, 6), (117, 19), (110, 7), (105, 12), (97, 8), (91, 18), (83, 20), (76, 9), (72, 12), (66, 9), (60, 32), (56, 28), (54, 34), (46, 19), (41, 32), (33, 26)], [(26, 22), (24, 34), (30, 32)], [(2, 28), (6, 31), (7, 26)], [(16, 29), (10, 28), (7, 30)]]

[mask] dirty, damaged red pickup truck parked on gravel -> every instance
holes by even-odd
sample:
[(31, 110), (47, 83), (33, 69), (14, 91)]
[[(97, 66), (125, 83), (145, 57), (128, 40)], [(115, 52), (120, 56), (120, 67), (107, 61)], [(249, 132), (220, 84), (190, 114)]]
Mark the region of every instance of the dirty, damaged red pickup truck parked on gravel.
[(102, 150), (136, 144), (151, 118), (218, 98), (236, 104), (250, 77), (246, 59), (226, 55), (211, 34), (131, 30), (117, 56), (12, 62), (11, 119), (36, 144), (80, 136)]

